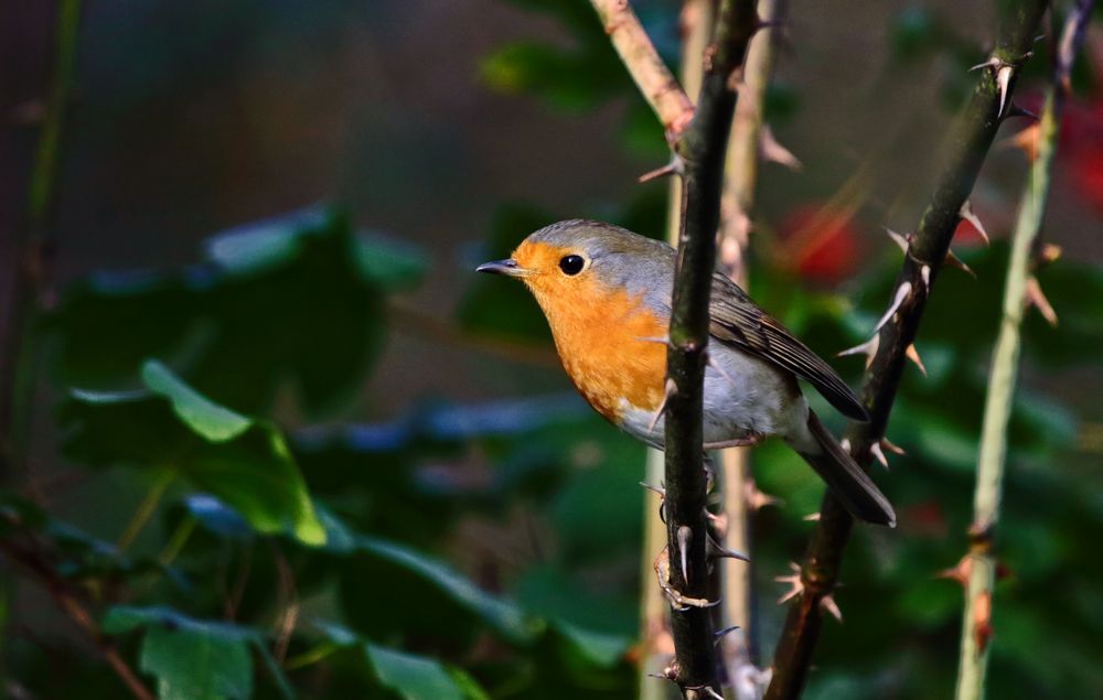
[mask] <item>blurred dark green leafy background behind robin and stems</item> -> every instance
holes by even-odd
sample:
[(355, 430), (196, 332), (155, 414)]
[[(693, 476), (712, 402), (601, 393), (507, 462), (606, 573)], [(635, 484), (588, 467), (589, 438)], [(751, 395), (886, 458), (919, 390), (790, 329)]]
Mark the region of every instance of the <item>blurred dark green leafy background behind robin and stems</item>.
[[(678, 3), (633, 6), (675, 62)], [(990, 6), (792, 4), (765, 114), (803, 168), (762, 166), (750, 287), (825, 357), (890, 297), (900, 252), (882, 226), (919, 220)], [(7, 329), (56, 9), (0, 7)], [(1028, 109), (1051, 35), (1018, 89)], [(15, 577), (23, 550), (6, 549), (7, 693), (126, 692), (58, 612), (62, 586), (161, 697), (632, 697), (654, 553), (643, 450), (574, 396), (526, 292), (473, 273), (561, 218), (664, 234), (666, 184), (635, 183), (667, 158), (662, 129), (589, 3), (89, 0), (76, 37), (49, 312), (30, 331), (25, 460), (0, 529), (52, 573)], [(1038, 272), (1059, 323), (1035, 310), (1025, 324), (993, 697), (1103, 693), (1097, 22), (1085, 45), (1042, 229), (1062, 255)], [(976, 279), (947, 269), (932, 295), (927, 376), (908, 370), (888, 429), (907, 454), (876, 474), (900, 526), (856, 532), (846, 623), (826, 625), (807, 697), (953, 687), (962, 595), (938, 574), (967, 543), (1028, 125), (1003, 127), (972, 200), (992, 246), (959, 231)], [(857, 386), (860, 358), (833, 364)], [(822, 485), (777, 444), (753, 459), (782, 499), (753, 528), (768, 660), (773, 578), (803, 551)], [(181, 634), (233, 659), (202, 690), (186, 690), (205, 667)], [(411, 690), (419, 678), (439, 685)]]

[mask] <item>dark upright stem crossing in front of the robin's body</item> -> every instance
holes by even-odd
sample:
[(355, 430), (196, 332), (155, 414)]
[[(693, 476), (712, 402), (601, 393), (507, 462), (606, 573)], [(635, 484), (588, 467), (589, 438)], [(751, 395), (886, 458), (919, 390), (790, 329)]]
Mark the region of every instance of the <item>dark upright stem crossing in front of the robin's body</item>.
[[(682, 235), (671, 313), (666, 403), (666, 524), (672, 583), (696, 599), (708, 595), (705, 521), (706, 474), (702, 461), (702, 387), (708, 342), (708, 303), (716, 268), (716, 231), (731, 117), (733, 73), (759, 28), (753, 0), (725, 0), (714, 42), (705, 55), (700, 97), (693, 121), (674, 148), (685, 163)], [(678, 531), (686, 531), (682, 571)], [(686, 697), (719, 692), (709, 610), (675, 611), (672, 620), (676, 678)]]

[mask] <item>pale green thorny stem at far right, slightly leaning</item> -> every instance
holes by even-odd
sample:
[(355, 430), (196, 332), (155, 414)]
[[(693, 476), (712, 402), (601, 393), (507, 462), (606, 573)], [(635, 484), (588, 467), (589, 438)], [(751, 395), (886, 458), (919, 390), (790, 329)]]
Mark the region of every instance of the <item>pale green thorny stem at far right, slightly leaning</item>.
[(992, 371), (984, 405), (984, 426), (977, 456), (976, 491), (970, 549), (962, 560), (965, 580), (965, 615), (962, 623), (961, 661), (957, 672), (957, 699), (984, 697), (992, 635), (992, 594), (996, 581), (993, 551), (999, 519), (1004, 464), (1007, 455), (1007, 424), (1018, 375), (1020, 329), (1030, 288), (1031, 251), (1041, 226), (1049, 196), (1053, 155), (1057, 151), (1061, 111), (1069, 93), (1069, 73), (1091, 17), (1093, 0), (1080, 0), (1069, 15), (1058, 45), (1053, 84), (1046, 91), (1039, 123), (1037, 154), (1019, 205), (1019, 216), (1011, 235), (1011, 257), (1007, 263), (1004, 289), (1004, 314), (999, 336), (992, 353)]

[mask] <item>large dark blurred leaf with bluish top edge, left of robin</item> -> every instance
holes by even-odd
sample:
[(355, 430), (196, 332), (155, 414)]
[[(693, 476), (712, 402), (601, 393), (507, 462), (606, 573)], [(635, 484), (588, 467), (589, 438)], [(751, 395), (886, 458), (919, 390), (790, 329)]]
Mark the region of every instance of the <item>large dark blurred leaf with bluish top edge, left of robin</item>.
[(386, 294), (424, 268), (407, 246), (308, 209), (208, 239), (181, 270), (101, 273), (67, 292), (50, 329), (62, 379), (118, 386), (147, 357), (239, 410), (293, 383), (311, 412), (332, 409), (383, 344)]

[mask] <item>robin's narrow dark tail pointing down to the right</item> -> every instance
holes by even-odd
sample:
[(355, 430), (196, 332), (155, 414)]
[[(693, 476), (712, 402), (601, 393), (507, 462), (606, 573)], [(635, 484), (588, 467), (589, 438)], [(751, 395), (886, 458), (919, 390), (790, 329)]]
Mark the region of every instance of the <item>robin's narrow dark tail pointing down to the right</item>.
[(827, 432), (812, 409), (808, 409), (807, 426), (816, 444), (802, 444), (797, 453), (827, 483), (832, 494), (859, 520), (896, 527), (892, 504), (835, 437)]

